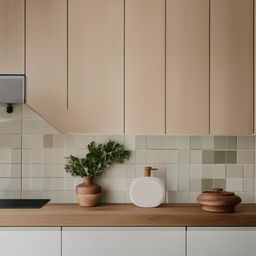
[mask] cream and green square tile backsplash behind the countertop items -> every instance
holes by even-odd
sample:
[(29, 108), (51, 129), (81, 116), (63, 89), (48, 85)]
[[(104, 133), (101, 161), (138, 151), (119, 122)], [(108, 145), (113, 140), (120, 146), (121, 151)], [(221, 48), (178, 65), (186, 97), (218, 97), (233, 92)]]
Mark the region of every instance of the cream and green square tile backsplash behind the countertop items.
[(12, 114), (0, 106), (0, 198), (76, 202), (74, 187), (82, 179), (65, 173), (65, 156), (83, 156), (92, 140), (109, 139), (125, 144), (132, 155), (97, 178), (104, 202), (130, 202), (129, 185), (145, 165), (158, 168), (153, 175), (165, 183), (166, 202), (195, 202), (214, 187), (255, 202), (254, 136), (64, 135), (26, 105), (15, 105)]

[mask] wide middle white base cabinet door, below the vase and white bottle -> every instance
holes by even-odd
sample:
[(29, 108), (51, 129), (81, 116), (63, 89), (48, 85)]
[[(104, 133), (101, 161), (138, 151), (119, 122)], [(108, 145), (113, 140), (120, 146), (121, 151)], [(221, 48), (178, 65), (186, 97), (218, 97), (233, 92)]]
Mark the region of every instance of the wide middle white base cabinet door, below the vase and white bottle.
[(62, 256), (185, 256), (185, 228), (63, 228)]

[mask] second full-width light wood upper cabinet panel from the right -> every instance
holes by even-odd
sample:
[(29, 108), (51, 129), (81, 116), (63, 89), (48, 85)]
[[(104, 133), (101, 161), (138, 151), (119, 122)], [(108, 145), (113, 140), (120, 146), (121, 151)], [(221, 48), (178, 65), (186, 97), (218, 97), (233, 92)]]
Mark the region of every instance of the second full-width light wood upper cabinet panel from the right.
[(166, 2), (166, 133), (209, 133), (209, 1)]

